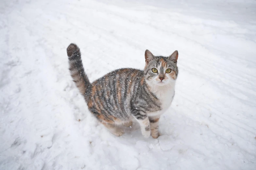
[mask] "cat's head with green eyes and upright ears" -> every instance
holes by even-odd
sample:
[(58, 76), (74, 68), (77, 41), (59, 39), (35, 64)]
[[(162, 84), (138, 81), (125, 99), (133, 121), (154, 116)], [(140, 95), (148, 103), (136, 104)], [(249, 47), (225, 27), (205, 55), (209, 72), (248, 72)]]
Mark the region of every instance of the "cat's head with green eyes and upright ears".
[(169, 57), (154, 56), (149, 50), (145, 51), (146, 65), (145, 80), (150, 86), (168, 86), (175, 83), (178, 76), (178, 51)]

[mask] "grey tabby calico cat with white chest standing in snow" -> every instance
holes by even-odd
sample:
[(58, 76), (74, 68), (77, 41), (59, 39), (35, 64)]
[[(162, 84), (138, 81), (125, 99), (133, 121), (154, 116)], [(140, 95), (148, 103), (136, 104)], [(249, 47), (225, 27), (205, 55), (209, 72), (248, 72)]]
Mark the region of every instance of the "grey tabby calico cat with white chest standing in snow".
[(145, 68), (122, 68), (90, 83), (84, 72), (81, 53), (76, 44), (67, 48), (69, 70), (77, 88), (84, 96), (91, 113), (108, 130), (123, 134), (120, 124), (130, 126), (135, 118), (142, 135), (159, 136), (158, 120), (171, 105), (178, 76), (178, 51), (169, 57), (154, 56), (145, 51)]

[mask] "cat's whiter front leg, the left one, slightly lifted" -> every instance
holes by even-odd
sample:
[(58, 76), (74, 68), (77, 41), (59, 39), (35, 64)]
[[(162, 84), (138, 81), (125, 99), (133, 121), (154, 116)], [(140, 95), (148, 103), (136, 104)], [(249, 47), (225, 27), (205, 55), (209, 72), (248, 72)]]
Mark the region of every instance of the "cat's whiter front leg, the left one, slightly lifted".
[(147, 115), (144, 112), (137, 111), (133, 114), (136, 120), (141, 126), (141, 133), (144, 137), (148, 138), (150, 136), (150, 123)]

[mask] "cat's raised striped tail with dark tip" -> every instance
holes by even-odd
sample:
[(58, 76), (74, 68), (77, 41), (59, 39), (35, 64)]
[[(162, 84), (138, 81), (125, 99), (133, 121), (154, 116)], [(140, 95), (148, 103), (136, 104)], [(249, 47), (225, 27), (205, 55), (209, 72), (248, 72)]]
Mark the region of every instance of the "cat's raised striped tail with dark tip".
[(84, 96), (86, 89), (91, 85), (91, 83), (84, 72), (80, 49), (76, 44), (71, 43), (67, 48), (67, 54), (71, 77), (76, 83), (81, 94)]

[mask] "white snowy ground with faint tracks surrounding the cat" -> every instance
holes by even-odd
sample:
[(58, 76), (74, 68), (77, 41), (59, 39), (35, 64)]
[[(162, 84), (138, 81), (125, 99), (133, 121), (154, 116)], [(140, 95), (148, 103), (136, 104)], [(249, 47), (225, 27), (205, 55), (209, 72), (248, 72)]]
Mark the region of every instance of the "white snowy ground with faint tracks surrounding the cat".
[[(256, 1), (0, 2), (1, 170), (255, 170)], [(179, 50), (158, 139), (121, 137), (89, 113), (68, 71), (91, 81)]]

